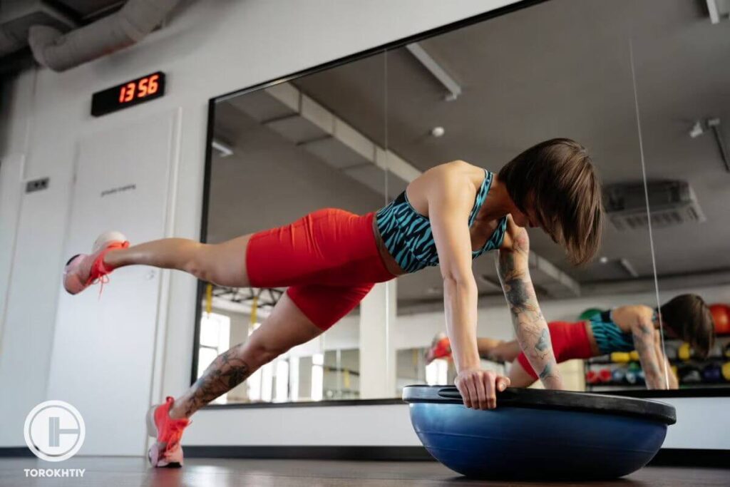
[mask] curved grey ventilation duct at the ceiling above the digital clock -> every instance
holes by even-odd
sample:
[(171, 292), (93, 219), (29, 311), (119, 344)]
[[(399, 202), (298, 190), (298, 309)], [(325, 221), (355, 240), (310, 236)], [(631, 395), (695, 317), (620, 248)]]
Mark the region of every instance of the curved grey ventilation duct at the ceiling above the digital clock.
[(66, 71), (139, 42), (179, 3), (129, 0), (118, 12), (68, 34), (49, 26), (33, 26), (28, 32), (28, 44), (42, 66)]

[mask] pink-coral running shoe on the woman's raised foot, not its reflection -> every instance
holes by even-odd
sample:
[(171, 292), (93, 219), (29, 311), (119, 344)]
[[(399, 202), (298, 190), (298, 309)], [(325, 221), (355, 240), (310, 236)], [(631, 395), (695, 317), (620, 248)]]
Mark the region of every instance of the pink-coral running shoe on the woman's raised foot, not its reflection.
[(66, 262), (64, 268), (64, 289), (69, 294), (79, 294), (92, 284), (107, 283), (111, 267), (104, 264), (104, 256), (110, 250), (128, 248), (129, 242), (118, 231), (106, 231), (93, 243), (90, 254), (80, 253)]

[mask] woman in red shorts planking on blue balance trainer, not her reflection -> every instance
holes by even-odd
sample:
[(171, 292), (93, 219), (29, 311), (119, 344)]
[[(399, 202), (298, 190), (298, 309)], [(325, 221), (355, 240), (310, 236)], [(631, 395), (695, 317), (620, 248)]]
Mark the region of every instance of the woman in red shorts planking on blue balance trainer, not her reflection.
[(494, 175), (464, 161), (436, 166), (380, 211), (319, 210), (291, 225), (216, 245), (161, 239), (129, 247), (121, 234), (97, 239), (91, 255), (66, 264), (64, 286), (76, 294), (120, 266), (145, 264), (190, 272), (229, 287), (285, 287), (269, 318), (247, 340), (213, 361), (177, 399), (154, 408), (158, 442), (150, 461), (181, 464), (188, 418), (242, 383), (258, 367), (312, 340), (364, 298), (374, 283), (439, 265), (456, 386), (466, 407), (496, 406), (507, 377), (480, 369), (477, 285), (472, 259), (499, 250), (499, 273), (520, 347), (547, 388), (561, 377), (529, 277), (524, 227), (540, 227), (575, 263), (590, 260), (602, 230), (601, 188), (585, 148), (551, 139), (521, 153)]

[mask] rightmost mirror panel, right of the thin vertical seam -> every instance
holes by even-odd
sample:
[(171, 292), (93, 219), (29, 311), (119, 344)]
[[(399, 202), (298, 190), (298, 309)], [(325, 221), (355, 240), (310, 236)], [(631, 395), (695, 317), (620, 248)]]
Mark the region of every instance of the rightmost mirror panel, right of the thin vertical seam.
[(632, 14), (655, 302), (669, 379), (717, 394), (730, 388), (730, 28), (692, 2), (663, 9), (637, 2)]

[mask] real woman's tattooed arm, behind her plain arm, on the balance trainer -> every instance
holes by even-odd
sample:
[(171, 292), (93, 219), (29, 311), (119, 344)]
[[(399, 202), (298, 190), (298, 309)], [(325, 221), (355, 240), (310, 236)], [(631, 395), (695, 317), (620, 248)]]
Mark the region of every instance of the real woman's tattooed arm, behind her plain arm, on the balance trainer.
[(510, 218), (507, 233), (511, 242), (499, 250), (497, 272), (512, 312), (517, 341), (545, 388), (561, 389), (563, 381), (550, 342), (548, 323), (540, 312), (530, 278), (527, 231)]

